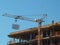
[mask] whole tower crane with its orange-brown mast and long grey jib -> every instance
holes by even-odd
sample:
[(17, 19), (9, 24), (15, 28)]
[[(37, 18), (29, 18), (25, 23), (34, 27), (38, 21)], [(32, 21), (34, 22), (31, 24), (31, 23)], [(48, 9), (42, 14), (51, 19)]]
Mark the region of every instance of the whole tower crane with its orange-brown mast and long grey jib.
[(44, 19), (47, 17), (47, 14), (43, 14), (43, 17), (40, 19), (31, 19), (31, 18), (26, 18), (23, 16), (17, 16), (17, 15), (11, 15), (11, 14), (7, 14), (7, 13), (3, 14), (3, 16), (14, 18), (15, 22), (17, 22), (18, 19), (31, 21), (31, 22), (37, 22), (38, 23), (38, 45), (42, 45), (42, 43), (40, 42), (41, 26), (42, 26), (42, 22), (44, 22)]

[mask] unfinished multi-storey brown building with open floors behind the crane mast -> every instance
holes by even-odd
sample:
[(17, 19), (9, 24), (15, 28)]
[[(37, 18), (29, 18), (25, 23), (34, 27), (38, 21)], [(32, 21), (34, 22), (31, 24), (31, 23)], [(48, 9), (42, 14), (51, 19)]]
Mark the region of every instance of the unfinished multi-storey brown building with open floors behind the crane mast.
[(40, 35), (37, 27), (12, 32), (8, 35), (11, 39), (8, 45), (60, 45), (60, 23), (48, 24), (40, 29)]

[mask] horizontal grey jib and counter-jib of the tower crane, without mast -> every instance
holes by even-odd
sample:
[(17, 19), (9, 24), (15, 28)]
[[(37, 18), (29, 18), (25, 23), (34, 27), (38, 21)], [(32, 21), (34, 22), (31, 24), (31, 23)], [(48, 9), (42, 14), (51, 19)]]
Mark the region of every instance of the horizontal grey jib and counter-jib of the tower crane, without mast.
[(26, 20), (26, 21), (32, 21), (32, 22), (44, 22), (43, 19), (45, 19), (47, 17), (47, 14), (43, 14), (43, 17), (41, 19), (31, 19), (31, 18), (18, 16), (18, 15), (7, 14), (7, 13), (3, 14), (2, 16), (14, 18), (16, 22), (17, 22), (18, 19)]

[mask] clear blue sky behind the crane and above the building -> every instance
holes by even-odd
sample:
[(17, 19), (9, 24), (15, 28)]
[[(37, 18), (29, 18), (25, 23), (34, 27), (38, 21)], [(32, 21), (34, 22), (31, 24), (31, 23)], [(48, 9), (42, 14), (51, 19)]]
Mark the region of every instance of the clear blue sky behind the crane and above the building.
[[(38, 26), (35, 22), (4, 17), (3, 14), (21, 15), (28, 18), (41, 18), (47, 14), (43, 24), (49, 24), (52, 20), (60, 21), (60, 0), (0, 0), (0, 45), (7, 45), (10, 38), (8, 34), (19, 30)], [(20, 29), (12, 29), (12, 24), (19, 24)]]

